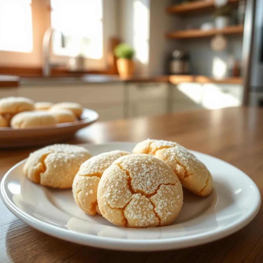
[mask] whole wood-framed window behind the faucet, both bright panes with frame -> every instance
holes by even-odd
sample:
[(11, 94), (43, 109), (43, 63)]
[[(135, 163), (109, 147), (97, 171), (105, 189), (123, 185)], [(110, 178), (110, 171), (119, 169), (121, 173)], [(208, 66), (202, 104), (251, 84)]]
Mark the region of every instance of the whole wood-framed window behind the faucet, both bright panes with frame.
[(116, 0), (0, 0), (0, 66), (42, 67), (43, 36), (53, 27), (51, 62), (67, 67), (81, 55), (84, 70), (105, 70), (117, 12)]

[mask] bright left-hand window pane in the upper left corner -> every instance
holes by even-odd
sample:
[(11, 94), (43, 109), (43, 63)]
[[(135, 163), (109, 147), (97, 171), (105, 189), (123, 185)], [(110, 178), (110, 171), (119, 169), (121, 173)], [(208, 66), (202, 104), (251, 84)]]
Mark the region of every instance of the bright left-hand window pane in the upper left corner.
[(0, 50), (32, 52), (31, 0), (0, 0)]

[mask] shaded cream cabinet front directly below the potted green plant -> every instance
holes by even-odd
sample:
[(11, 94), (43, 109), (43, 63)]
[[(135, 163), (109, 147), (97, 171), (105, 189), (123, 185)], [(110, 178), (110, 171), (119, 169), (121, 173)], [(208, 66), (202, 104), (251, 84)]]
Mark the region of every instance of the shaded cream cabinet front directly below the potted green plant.
[(129, 83), (127, 94), (127, 117), (165, 114), (168, 110), (168, 84)]

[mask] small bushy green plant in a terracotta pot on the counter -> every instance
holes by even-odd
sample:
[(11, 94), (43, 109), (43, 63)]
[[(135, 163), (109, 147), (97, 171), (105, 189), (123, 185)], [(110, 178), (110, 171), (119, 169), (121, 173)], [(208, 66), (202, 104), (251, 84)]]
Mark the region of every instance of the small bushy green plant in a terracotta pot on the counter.
[(131, 78), (134, 72), (133, 48), (128, 44), (120, 43), (114, 48), (114, 55), (117, 57), (117, 69), (120, 78)]

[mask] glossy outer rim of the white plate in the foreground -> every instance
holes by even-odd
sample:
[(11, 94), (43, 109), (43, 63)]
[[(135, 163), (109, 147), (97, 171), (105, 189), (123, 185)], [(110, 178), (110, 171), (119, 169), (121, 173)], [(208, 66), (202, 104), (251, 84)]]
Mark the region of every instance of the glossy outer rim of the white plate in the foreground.
[[(105, 142), (105, 143), (85, 143), (81, 144), (83, 145), (109, 145), (109, 144), (117, 144), (117, 143), (130, 143), (133, 142), (122, 142), (122, 141), (114, 141), (114, 142)], [(135, 144), (135, 143), (134, 143)], [(190, 150), (193, 153), (200, 153), (198, 151)], [(228, 165), (231, 165), (235, 169), (239, 168), (236, 166), (227, 163), (224, 160), (221, 160), (219, 158), (216, 158), (212, 155), (208, 155), (205, 153), (200, 153), (209, 157), (213, 157), (217, 160), (220, 160)], [(26, 158), (27, 159), (27, 158)], [(246, 226), (249, 222), (254, 219), (254, 217), (257, 215), (260, 205), (261, 205), (261, 195), (260, 191), (255, 184), (255, 182), (243, 171), (242, 174), (247, 177), (247, 179), (250, 180), (254, 190), (255, 194), (257, 196), (256, 202), (254, 203), (254, 206), (252, 207), (252, 210), (250, 214), (246, 214), (246, 216), (241, 217), (239, 220), (234, 221), (234, 223), (229, 224), (227, 227), (221, 230), (213, 230), (210, 232), (205, 232), (200, 234), (194, 234), (194, 235), (188, 235), (185, 237), (170, 237), (170, 238), (163, 238), (163, 239), (121, 239), (117, 237), (105, 237), (105, 236), (96, 236), (92, 234), (87, 233), (80, 233), (77, 231), (72, 231), (68, 229), (63, 229), (62, 227), (58, 227), (55, 225), (48, 224), (47, 222), (44, 222), (38, 218), (35, 218), (26, 212), (22, 211), (20, 208), (18, 208), (13, 202), (8, 198), (7, 193), (4, 189), (4, 183), (6, 181), (6, 178), (8, 177), (9, 173), (15, 169), (17, 166), (21, 165), (26, 161), (26, 159), (20, 161), (19, 163), (12, 166), (3, 176), (1, 180), (0, 185), (0, 196), (2, 198), (3, 203), (5, 206), (13, 213), (17, 218), (24, 221), (26, 224), (32, 226), (34, 229), (37, 229), (41, 232), (44, 232), (47, 235), (51, 235), (53, 237), (57, 237), (59, 239), (63, 239), (69, 242), (74, 242), (77, 244), (82, 245), (88, 245), (92, 247), (98, 247), (103, 249), (112, 249), (112, 250), (123, 250), (123, 251), (161, 251), (161, 250), (171, 250), (171, 249), (180, 249), (180, 248), (186, 248), (186, 247), (192, 247), (197, 245), (206, 244), (209, 242), (213, 242), (216, 240), (219, 240), (221, 238), (224, 238), (226, 236), (229, 236), (236, 231), (242, 229), (244, 226)], [(156, 242), (157, 241), (157, 242)], [(156, 249), (156, 245), (158, 245), (158, 249)]]

